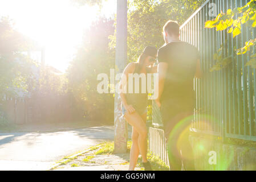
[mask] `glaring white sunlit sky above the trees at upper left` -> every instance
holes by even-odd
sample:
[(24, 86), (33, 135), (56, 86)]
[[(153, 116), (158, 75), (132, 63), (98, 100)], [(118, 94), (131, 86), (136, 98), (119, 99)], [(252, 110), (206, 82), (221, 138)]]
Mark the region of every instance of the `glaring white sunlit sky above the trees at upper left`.
[(46, 64), (65, 72), (83, 30), (97, 16), (115, 14), (116, 1), (104, 2), (99, 13), (96, 6), (75, 6), (71, 0), (0, 0), (0, 17), (9, 16), (19, 32), (45, 46)]

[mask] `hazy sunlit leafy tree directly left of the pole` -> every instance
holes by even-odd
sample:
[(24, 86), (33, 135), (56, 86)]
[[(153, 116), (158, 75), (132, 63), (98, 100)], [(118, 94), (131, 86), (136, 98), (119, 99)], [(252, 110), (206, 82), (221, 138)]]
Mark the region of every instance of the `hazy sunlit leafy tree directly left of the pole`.
[(113, 23), (112, 19), (99, 18), (84, 32), (83, 45), (68, 69), (73, 105), (78, 115), (94, 121), (113, 122), (113, 94), (99, 94), (96, 80), (99, 73), (115, 68), (115, 52), (108, 47)]

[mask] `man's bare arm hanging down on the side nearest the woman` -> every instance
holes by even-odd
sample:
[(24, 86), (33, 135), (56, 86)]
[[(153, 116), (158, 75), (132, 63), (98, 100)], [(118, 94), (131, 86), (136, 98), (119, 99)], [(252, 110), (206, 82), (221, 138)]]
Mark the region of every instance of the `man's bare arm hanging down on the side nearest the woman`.
[(159, 105), (159, 107), (161, 106), (160, 98), (162, 95), (162, 91), (164, 90), (164, 83), (165, 83), (167, 69), (168, 69), (167, 63), (158, 64), (157, 72), (159, 73), (159, 97), (156, 99), (156, 103), (157, 105)]

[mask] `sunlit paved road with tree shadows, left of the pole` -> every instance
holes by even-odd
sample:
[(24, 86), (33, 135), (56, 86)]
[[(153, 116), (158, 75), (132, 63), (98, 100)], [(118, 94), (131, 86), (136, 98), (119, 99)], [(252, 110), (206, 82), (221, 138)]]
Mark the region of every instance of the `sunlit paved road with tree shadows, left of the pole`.
[(113, 137), (112, 126), (51, 133), (0, 133), (0, 170), (46, 170), (64, 156)]

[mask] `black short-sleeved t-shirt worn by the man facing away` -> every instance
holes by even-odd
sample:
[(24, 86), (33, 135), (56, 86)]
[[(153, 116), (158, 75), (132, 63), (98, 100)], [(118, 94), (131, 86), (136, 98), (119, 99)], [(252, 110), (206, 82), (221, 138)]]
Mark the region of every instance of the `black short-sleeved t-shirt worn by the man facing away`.
[(198, 59), (200, 59), (198, 49), (189, 43), (172, 42), (159, 49), (157, 60), (159, 63), (168, 63), (160, 100), (162, 106), (177, 107), (178, 102), (181, 107), (193, 107), (194, 75)]

